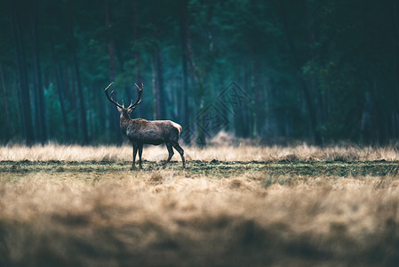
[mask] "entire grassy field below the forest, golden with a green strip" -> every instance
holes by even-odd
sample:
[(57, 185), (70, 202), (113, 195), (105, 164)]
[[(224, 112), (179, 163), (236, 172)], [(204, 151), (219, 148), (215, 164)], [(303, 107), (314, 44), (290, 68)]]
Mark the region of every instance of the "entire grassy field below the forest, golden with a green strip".
[(186, 151), (0, 147), (0, 266), (399, 262), (395, 147)]

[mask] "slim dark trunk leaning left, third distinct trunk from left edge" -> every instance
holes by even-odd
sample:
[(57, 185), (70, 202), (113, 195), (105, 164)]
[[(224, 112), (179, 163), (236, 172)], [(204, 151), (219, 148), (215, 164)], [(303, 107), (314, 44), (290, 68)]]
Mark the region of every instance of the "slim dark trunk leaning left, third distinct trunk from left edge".
[(69, 17), (69, 36), (71, 39), (71, 46), (72, 46), (72, 56), (74, 61), (74, 67), (76, 72), (76, 83), (77, 83), (77, 96), (79, 100), (79, 117), (81, 122), (81, 131), (83, 134), (83, 143), (89, 143), (89, 135), (87, 134), (87, 118), (86, 118), (86, 107), (84, 103), (84, 93), (82, 87), (82, 81), (80, 78), (80, 70), (79, 70), (79, 62), (77, 61), (77, 54), (76, 54), (76, 40), (74, 36), (74, 22), (72, 18), (72, 7), (71, 1), (68, 0), (68, 17)]

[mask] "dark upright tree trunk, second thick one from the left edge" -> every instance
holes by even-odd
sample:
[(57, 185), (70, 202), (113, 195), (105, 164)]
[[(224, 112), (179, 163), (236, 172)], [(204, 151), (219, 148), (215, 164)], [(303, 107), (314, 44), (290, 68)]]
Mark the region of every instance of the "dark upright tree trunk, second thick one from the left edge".
[(35, 69), (35, 87), (36, 87), (36, 124), (38, 129), (38, 140), (46, 142), (47, 136), (47, 124), (45, 116), (45, 101), (44, 101), (44, 87), (42, 82), (42, 70), (40, 66), (40, 54), (39, 47), (37, 44), (37, 14), (38, 4), (36, 0), (32, 0), (32, 11), (31, 11), (31, 39), (32, 39), (32, 55)]

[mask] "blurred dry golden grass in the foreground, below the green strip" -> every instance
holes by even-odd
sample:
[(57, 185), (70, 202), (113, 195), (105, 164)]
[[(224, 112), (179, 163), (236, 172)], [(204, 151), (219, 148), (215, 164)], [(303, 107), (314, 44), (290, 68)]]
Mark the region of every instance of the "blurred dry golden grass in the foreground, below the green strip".
[(6, 174), (0, 265), (397, 263), (397, 177), (261, 178)]

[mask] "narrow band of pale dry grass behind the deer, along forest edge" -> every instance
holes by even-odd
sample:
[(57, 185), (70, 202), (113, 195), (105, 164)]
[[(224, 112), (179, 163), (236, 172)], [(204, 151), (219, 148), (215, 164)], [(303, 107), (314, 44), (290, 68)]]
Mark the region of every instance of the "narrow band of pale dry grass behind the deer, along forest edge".
[[(331, 146), (320, 148), (307, 144), (293, 147), (281, 146), (253, 146), (237, 144), (231, 146), (222, 144), (205, 149), (184, 147), (188, 160), (209, 161), (375, 161), (399, 160), (399, 150), (394, 146), (387, 147), (357, 147), (357, 146)], [(164, 145), (148, 146), (143, 151), (143, 158), (148, 161), (160, 161), (167, 158)], [(176, 152), (172, 158), (180, 160)], [(0, 160), (64, 160), (64, 161), (130, 161), (132, 160), (132, 147), (130, 145), (116, 146), (78, 146), (58, 145), (49, 143), (32, 147), (21, 145), (0, 146)]]

